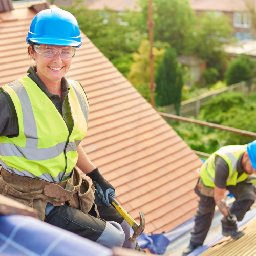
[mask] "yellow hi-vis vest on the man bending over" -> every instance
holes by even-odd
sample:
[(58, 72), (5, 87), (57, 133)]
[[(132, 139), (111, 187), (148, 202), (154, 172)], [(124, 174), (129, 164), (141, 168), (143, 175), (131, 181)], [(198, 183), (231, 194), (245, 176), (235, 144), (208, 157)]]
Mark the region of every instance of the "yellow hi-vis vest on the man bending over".
[(200, 177), (205, 186), (215, 187), (215, 157), (222, 157), (229, 167), (227, 186), (235, 186), (238, 182), (246, 180), (248, 174), (243, 173), (238, 178), (237, 161), (246, 152), (247, 145), (224, 146), (213, 153), (201, 166)]

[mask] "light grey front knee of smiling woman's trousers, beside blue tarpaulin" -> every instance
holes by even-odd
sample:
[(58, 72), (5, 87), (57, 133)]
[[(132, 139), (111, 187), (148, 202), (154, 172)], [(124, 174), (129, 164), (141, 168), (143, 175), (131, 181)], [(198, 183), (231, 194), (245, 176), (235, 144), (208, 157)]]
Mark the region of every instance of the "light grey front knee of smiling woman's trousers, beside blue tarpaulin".
[(122, 247), (125, 241), (125, 234), (120, 224), (114, 221), (106, 221), (106, 226), (96, 243), (106, 247)]

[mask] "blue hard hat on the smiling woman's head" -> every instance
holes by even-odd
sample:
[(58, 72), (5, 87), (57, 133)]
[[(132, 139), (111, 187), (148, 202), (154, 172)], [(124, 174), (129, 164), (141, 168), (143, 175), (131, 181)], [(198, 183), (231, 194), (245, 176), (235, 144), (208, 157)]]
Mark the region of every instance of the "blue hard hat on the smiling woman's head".
[(82, 44), (76, 18), (67, 11), (52, 8), (36, 14), (30, 25), (27, 44), (75, 46)]

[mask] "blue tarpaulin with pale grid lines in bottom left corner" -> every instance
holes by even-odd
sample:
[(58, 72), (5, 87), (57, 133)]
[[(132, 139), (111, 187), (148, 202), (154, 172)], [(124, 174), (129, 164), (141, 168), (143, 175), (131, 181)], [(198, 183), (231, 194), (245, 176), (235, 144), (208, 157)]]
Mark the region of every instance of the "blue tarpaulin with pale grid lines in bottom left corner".
[(110, 256), (112, 250), (22, 215), (0, 215), (1, 256)]

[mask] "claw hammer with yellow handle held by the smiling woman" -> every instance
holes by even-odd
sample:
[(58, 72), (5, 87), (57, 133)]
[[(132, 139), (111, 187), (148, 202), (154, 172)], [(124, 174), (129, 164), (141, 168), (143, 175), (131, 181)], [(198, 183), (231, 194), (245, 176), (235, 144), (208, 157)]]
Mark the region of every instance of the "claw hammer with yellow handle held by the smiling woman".
[(109, 195), (110, 204), (119, 212), (119, 214), (128, 222), (128, 224), (133, 229), (133, 235), (129, 237), (129, 241), (132, 243), (139, 237), (145, 229), (145, 217), (143, 212), (140, 212), (140, 224), (138, 224), (127, 212), (123, 209), (121, 205), (117, 203), (117, 201)]

